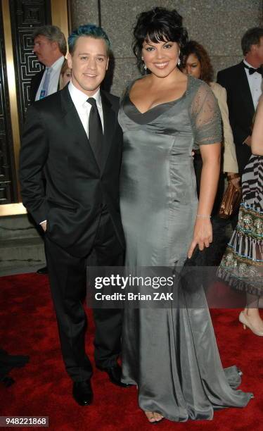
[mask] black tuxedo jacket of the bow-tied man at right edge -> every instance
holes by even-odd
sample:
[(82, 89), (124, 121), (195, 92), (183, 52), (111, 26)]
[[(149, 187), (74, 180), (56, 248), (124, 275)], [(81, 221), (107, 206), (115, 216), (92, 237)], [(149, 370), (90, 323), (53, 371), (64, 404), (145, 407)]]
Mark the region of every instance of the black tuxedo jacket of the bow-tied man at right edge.
[(242, 174), (251, 156), (249, 146), (243, 142), (252, 133), (252, 118), (255, 113), (243, 61), (231, 68), (221, 70), (217, 75), (217, 82), (226, 89), (229, 121), (236, 145), (238, 170)]

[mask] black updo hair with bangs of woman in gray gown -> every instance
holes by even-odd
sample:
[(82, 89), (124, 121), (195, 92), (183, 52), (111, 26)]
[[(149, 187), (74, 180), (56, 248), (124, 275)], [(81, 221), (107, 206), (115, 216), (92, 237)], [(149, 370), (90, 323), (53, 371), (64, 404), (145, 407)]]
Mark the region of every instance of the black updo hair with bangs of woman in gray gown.
[(134, 26), (132, 49), (141, 73), (143, 73), (143, 61), (141, 60), (143, 42), (145, 40), (153, 43), (177, 42), (182, 50), (188, 41), (187, 30), (182, 23), (183, 18), (175, 9), (169, 11), (166, 8), (153, 8), (138, 15)]

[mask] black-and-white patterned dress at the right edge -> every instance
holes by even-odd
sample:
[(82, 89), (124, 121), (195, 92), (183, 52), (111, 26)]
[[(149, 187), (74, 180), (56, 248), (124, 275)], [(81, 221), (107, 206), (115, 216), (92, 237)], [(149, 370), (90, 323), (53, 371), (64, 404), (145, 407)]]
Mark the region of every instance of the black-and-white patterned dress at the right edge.
[(218, 275), (248, 294), (263, 294), (263, 156), (250, 157), (242, 177), (243, 201), (238, 225)]

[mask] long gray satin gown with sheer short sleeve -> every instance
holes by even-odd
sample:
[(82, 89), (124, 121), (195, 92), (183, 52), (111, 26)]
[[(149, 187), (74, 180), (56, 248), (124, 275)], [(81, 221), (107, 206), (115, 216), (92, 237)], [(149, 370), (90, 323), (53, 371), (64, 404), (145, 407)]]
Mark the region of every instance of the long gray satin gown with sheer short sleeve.
[[(132, 85), (132, 83), (131, 83)], [(126, 266), (182, 265), (198, 205), (191, 151), (221, 141), (217, 101), (188, 77), (180, 99), (140, 113), (122, 97), (120, 178)], [(230, 329), (231, 330), (231, 329)], [(212, 419), (216, 409), (243, 407), (240, 372), (222, 368), (207, 307), (124, 310), (123, 382), (138, 386), (139, 406), (176, 421)]]

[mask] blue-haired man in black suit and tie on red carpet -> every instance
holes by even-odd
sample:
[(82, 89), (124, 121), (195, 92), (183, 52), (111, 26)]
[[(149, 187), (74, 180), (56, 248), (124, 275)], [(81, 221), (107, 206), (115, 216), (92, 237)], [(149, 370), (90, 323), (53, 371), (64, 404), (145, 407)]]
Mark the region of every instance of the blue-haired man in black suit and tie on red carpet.
[[(122, 266), (124, 235), (119, 208), (122, 130), (119, 99), (100, 89), (110, 42), (95, 25), (68, 39), (72, 81), (30, 106), (20, 152), (23, 203), (45, 235), (51, 292), (65, 368), (73, 396), (91, 404), (91, 362), (84, 348), (86, 259), (92, 266)], [(46, 177), (46, 192), (41, 171)], [(94, 309), (95, 361), (120, 382), (121, 312)]]

